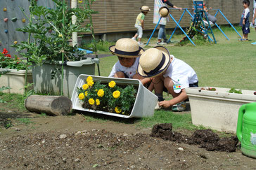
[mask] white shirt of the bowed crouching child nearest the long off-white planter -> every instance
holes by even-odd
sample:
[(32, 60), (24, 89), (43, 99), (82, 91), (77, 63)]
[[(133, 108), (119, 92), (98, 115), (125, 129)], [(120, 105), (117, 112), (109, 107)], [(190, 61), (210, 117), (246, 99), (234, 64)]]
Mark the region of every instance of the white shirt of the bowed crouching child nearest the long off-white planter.
[(175, 58), (173, 55), (172, 62), (169, 65), (167, 71), (163, 75), (164, 78), (172, 78), (174, 85), (181, 85), (181, 89), (189, 87), (189, 84), (197, 83), (198, 76), (196, 71), (192, 69), (191, 66), (186, 64), (186, 62)]

